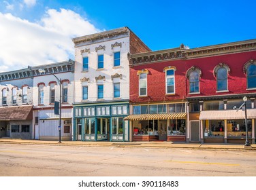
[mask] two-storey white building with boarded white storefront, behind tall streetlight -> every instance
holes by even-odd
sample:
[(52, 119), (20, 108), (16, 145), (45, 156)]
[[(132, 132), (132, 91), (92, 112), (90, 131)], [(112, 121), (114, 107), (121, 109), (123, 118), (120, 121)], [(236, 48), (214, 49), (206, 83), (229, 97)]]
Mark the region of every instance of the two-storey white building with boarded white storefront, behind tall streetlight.
[[(74, 61), (30, 67), (33, 73), (33, 125), (35, 139), (59, 139), (59, 114), (54, 102), (61, 96), (61, 140), (72, 138), (74, 102)], [(58, 106), (59, 107), (59, 106)], [(57, 107), (57, 110), (59, 111)]]

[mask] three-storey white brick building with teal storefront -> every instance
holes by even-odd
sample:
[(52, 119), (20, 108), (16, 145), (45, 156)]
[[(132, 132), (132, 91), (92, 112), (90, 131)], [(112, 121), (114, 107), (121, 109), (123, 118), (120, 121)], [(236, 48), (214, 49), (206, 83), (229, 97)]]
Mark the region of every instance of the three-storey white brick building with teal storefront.
[(127, 27), (73, 41), (74, 140), (129, 141), (127, 54), (150, 49)]

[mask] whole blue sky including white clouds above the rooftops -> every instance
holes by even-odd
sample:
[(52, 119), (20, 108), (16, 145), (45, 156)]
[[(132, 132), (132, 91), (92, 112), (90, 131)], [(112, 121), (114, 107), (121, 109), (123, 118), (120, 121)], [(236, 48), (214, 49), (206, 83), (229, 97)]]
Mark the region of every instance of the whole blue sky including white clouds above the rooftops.
[(256, 1), (0, 1), (0, 72), (74, 58), (72, 37), (128, 26), (155, 50), (256, 38)]

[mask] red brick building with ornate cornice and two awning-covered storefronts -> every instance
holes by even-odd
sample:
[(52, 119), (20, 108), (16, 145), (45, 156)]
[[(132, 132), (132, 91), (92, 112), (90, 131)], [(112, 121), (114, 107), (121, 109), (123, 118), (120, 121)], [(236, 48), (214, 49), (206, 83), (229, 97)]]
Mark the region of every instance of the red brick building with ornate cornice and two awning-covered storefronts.
[[(133, 140), (255, 141), (256, 40), (132, 54)], [(237, 129), (238, 128), (238, 129)]]

